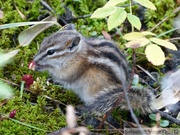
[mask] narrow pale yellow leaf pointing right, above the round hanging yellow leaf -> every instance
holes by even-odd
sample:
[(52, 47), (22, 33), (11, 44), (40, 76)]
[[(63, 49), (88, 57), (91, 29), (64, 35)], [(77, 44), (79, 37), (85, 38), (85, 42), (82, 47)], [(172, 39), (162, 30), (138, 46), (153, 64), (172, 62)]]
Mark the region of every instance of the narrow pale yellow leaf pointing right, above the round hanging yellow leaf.
[(162, 39), (159, 39), (159, 38), (150, 38), (150, 40), (158, 45), (161, 45), (161, 46), (164, 46), (168, 49), (172, 49), (172, 50), (177, 50), (176, 46), (173, 44), (173, 43), (170, 43), (166, 40), (162, 40)]

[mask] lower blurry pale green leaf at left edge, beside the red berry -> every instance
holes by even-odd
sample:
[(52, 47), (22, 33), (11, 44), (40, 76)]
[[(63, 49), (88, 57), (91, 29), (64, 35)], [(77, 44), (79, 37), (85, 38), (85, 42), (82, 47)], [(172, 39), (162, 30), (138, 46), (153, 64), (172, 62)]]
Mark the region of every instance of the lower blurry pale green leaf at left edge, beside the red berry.
[(13, 96), (12, 89), (0, 81), (0, 98), (10, 98)]

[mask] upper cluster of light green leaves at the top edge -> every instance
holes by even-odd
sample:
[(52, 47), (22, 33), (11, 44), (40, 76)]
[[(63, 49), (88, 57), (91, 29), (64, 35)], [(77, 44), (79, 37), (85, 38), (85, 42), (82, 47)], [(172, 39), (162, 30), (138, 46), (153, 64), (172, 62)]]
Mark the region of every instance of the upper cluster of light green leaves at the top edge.
[[(98, 8), (96, 11), (94, 11), (94, 13), (91, 15), (91, 18), (106, 18), (109, 16), (107, 22), (108, 30), (112, 30), (113, 28), (121, 25), (127, 18), (133, 27), (140, 30), (140, 19), (137, 16), (133, 15), (131, 10), (129, 13), (127, 13), (124, 7), (119, 7), (127, 1), (128, 0), (110, 0), (102, 8)], [(152, 10), (156, 9), (156, 7), (149, 0), (134, 1)], [(129, 0), (129, 2), (131, 7), (131, 0)]]

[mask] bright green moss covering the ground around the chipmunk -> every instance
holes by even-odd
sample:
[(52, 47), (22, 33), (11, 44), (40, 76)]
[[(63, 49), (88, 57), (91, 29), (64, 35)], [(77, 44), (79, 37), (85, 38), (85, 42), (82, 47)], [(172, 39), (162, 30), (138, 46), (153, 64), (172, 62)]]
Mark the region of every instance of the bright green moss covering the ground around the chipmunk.
[[(45, 16), (47, 13), (49, 13), (49, 11), (43, 9), (43, 6), (40, 4), (40, 0), (14, 0), (14, 2), (19, 11), (25, 15), (26, 19), (24, 20), (23, 18), (21, 18), (12, 0), (1, 0), (0, 8), (4, 12), (4, 18), (0, 20), (0, 25), (23, 21), (37, 21), (40, 17)], [(106, 0), (97, 0), (96, 4), (94, 4), (93, 0), (64, 0), (63, 2), (60, 2), (59, 0), (47, 0), (46, 2), (48, 2), (48, 4), (56, 11), (56, 15), (62, 15), (62, 13), (65, 12), (62, 8), (62, 4), (64, 4), (70, 10), (72, 10), (74, 17), (79, 17), (91, 14), (98, 7), (103, 6)], [(167, 15), (169, 15), (172, 10), (173, 9), (168, 11)], [(149, 14), (157, 15), (156, 12), (149, 12)], [(162, 16), (159, 14), (158, 16)], [(159, 21), (153, 20), (153, 16), (150, 17), (148, 15), (148, 17), (149, 18), (147, 18), (147, 22), (149, 28), (153, 27)], [(102, 30), (107, 31), (106, 21), (101, 19), (96, 20), (85, 18), (75, 20), (73, 23), (76, 24), (78, 31), (88, 37), (102, 35)], [(162, 24), (161, 29), (158, 29), (157, 32), (160, 33), (162, 31), (166, 31), (167, 29), (169, 30), (171, 27), (168, 23), (166, 22), (165, 24)], [(26, 28), (27, 27), (18, 27), (1, 30), (0, 50), (9, 52), (10, 50), (14, 50), (15, 48), (17, 48), (18, 35)], [(46, 131), (58, 130), (66, 126), (66, 121), (65, 116), (62, 112), (60, 112), (58, 109), (53, 109), (57, 108), (56, 105), (54, 105), (54, 100), (59, 102), (62, 111), (65, 110), (65, 105), (67, 104), (77, 105), (81, 103), (79, 98), (73, 92), (67, 91), (62, 87), (53, 85), (51, 83), (47, 83), (47, 78), (49, 77), (47, 72), (39, 73), (28, 69), (28, 64), (36, 54), (42, 40), (58, 29), (58, 27), (53, 26), (45, 30), (43, 33), (39, 34), (29, 46), (20, 48), (20, 52), (15, 56), (12, 63), (0, 69), (0, 78), (18, 85), (21, 84), (21, 78), (24, 74), (33, 75), (33, 78), (35, 80), (35, 83), (31, 86), (31, 88), (28, 91), (23, 92), (22, 99), (19, 97), (20, 87), (14, 85), (12, 86), (14, 88), (14, 98), (9, 99), (6, 104), (1, 105), (0, 116), (8, 115), (12, 110), (16, 109), (17, 114), (14, 118), (15, 120), (21, 121), (24, 124), (30, 124), (31, 126), (40, 128), (45, 131), (22, 125), (10, 119), (4, 119), (0, 121), (0, 134), (43, 135), (46, 134)], [(50, 97), (51, 100), (45, 98), (44, 95)], [(1, 103), (4, 103), (4, 101), (0, 100), (0, 104)], [(121, 120), (121, 116), (123, 119), (127, 119), (127, 113), (125, 111), (115, 111), (113, 112), (113, 115), (118, 120)]]

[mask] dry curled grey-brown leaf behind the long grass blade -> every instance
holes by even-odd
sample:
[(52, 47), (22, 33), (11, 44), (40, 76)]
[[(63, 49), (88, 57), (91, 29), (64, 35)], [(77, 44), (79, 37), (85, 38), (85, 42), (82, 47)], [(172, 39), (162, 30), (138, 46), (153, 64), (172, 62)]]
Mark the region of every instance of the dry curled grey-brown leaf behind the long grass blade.
[[(55, 18), (54, 16), (48, 16), (47, 18), (45, 18), (42, 21), (53, 21), (53, 22), (57, 22), (57, 18)], [(50, 26), (52, 26), (53, 23), (45, 23), (45, 24), (36, 24), (26, 30), (24, 30), (23, 32), (20, 33), (19, 37), (18, 37), (18, 41), (20, 46), (27, 46), (29, 45), (32, 40), (42, 31), (44, 31), (45, 29), (49, 28)]]

